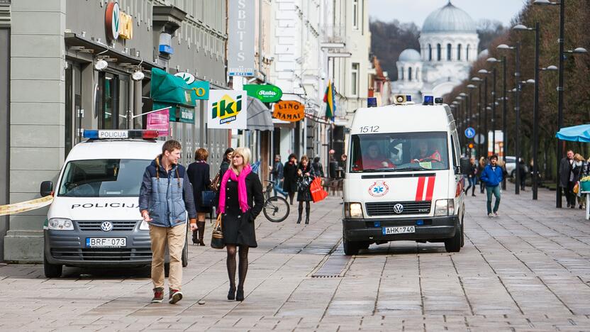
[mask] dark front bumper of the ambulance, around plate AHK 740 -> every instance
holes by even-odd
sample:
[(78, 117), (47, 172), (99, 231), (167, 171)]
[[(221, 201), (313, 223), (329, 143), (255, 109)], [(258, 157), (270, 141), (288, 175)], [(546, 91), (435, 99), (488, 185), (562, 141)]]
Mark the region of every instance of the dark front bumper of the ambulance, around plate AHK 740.
[[(444, 240), (455, 236), (459, 216), (425, 218), (343, 219), (343, 236), (348, 241)], [(386, 234), (386, 228), (415, 226), (413, 233)]]

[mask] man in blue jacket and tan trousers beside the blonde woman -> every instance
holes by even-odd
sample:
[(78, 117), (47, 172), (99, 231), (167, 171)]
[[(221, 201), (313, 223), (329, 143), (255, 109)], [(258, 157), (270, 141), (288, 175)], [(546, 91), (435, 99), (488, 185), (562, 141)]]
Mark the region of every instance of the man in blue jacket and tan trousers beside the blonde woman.
[(179, 165), (182, 146), (176, 140), (162, 145), (162, 154), (145, 168), (139, 194), (139, 209), (143, 220), (150, 224), (152, 245), (152, 303), (164, 299), (164, 256), (166, 245), (170, 256), (168, 302), (182, 299), (182, 248), (187, 240), (187, 212), (191, 231), (196, 229), (193, 190)]

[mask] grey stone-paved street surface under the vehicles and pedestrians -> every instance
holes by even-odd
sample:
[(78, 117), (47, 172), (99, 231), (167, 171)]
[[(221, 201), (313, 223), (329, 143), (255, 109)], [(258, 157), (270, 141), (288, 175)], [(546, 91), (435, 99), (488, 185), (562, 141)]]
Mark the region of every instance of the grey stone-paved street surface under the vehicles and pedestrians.
[(225, 299), (225, 252), (208, 247), (189, 248), (177, 305), (148, 303), (145, 270), (48, 280), (41, 265), (0, 265), (0, 331), (590, 331), (590, 222), (555, 209), (555, 192), (511, 192), (498, 218), (467, 197), (455, 254), (397, 242), (349, 258), (338, 197), (309, 226), (260, 217), (242, 303)]

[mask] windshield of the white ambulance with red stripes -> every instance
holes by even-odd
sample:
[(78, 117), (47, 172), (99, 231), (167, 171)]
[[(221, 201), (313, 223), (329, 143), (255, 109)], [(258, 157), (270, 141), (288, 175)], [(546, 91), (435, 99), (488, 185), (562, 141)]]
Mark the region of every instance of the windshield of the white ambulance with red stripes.
[(448, 170), (447, 133), (352, 135), (350, 172)]

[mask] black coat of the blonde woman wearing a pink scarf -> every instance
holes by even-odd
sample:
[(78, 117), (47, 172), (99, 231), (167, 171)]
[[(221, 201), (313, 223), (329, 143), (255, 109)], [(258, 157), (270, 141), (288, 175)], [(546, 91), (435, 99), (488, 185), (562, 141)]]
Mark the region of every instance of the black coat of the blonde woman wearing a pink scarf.
[[(233, 172), (233, 171), (229, 171)], [(254, 220), (262, 211), (265, 199), (262, 196), (262, 184), (258, 175), (250, 173), (246, 177), (246, 192), (250, 209), (245, 213), (240, 210), (238, 200), (238, 182), (228, 179), (226, 184), (226, 212), (221, 216), (223, 241), (231, 245), (257, 247)]]

